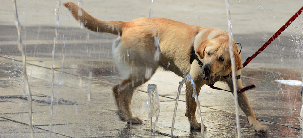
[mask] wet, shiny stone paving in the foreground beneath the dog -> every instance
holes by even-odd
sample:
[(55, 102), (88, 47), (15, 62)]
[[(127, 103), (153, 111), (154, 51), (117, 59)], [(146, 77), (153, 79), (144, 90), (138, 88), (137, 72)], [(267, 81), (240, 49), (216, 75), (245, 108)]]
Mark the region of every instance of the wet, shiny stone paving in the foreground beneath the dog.
[[(0, 80), (0, 133), (6, 137), (28, 136), (27, 98), (22, 94), (22, 77), (12, 71), (19, 70), (18, 58), (15, 61), (1, 58), (3, 70), (9, 78)], [(12, 58), (9, 57), (9, 58)], [(161, 112), (155, 134), (149, 132), (148, 112), (145, 102), (148, 99), (147, 87), (135, 92), (132, 100), (133, 114), (144, 120), (143, 125), (131, 125), (119, 120), (112, 96), (112, 86), (121, 80), (111, 60), (82, 60), (67, 58), (63, 70), (55, 71), (55, 121), (49, 130), (49, 104), (51, 90), (51, 60), (28, 57), (28, 72), (33, 92), (34, 131), (37, 137), (47, 137), (49, 131), (58, 137), (167, 137), (170, 134), (173, 108), (180, 77), (169, 72), (157, 71), (147, 84), (157, 84), (160, 93)], [(61, 60), (56, 61), (58, 66)], [(14, 68), (9, 67), (14, 64)], [(60, 70), (64, 72), (60, 72)], [(90, 73), (91, 72), (91, 73)], [(104, 73), (105, 72), (105, 73)], [(110, 72), (110, 73), (108, 73)], [(260, 123), (268, 125), (268, 133), (255, 133), (243, 112), (240, 114), (242, 137), (300, 137), (299, 113), (301, 110), (301, 87), (281, 85), (273, 80), (300, 80), (298, 71), (290, 69), (248, 68), (242, 70), (244, 85), (255, 84), (256, 88), (247, 92), (250, 104)], [(16, 77), (14, 77), (16, 76)], [(172, 80), (163, 78), (171, 77)], [(174, 77), (175, 76), (175, 77)], [(179, 79), (180, 78), (180, 79)], [(146, 84), (146, 85), (147, 85)], [(227, 89), (224, 83), (216, 84)], [(171, 88), (171, 89), (167, 89)], [(88, 101), (88, 92), (91, 99)], [(208, 127), (205, 137), (237, 137), (234, 103), (231, 93), (202, 88), (202, 118)], [(56, 102), (57, 101), (57, 102)], [(182, 102), (183, 101), (183, 102)], [(201, 137), (200, 132), (189, 129), (185, 117), (185, 94), (180, 96), (174, 136)], [(165, 109), (165, 110), (164, 110)], [(15, 132), (15, 133), (7, 133)]]

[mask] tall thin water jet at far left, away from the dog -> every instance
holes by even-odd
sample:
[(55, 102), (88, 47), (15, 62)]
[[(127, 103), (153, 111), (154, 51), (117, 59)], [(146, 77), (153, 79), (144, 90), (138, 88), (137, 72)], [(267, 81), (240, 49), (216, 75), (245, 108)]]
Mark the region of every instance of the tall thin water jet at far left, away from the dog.
[(34, 137), (34, 131), (33, 131), (33, 116), (32, 116), (32, 93), (29, 87), (27, 73), (26, 73), (26, 54), (25, 54), (25, 47), (21, 42), (21, 25), (18, 18), (18, 12), (17, 12), (17, 3), (16, 0), (13, 0), (14, 2), (14, 9), (15, 9), (15, 24), (18, 31), (18, 48), (22, 54), (22, 61), (23, 61), (23, 76), (24, 76), (24, 85), (25, 85), (25, 91), (27, 91), (27, 102), (28, 102), (28, 116), (29, 116), (29, 130), (30, 135), (33, 138)]

